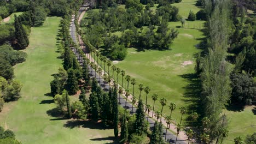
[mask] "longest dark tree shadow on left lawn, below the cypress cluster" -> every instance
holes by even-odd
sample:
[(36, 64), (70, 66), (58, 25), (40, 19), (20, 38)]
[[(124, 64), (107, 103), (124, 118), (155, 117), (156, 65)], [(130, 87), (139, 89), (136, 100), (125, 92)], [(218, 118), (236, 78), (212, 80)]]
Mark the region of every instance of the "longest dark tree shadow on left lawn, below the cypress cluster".
[(103, 124), (101, 122), (94, 122), (90, 120), (80, 120), (80, 119), (71, 119), (67, 121), (65, 124), (63, 124), (63, 127), (65, 128), (89, 128), (89, 129), (110, 129), (110, 128), (104, 128)]

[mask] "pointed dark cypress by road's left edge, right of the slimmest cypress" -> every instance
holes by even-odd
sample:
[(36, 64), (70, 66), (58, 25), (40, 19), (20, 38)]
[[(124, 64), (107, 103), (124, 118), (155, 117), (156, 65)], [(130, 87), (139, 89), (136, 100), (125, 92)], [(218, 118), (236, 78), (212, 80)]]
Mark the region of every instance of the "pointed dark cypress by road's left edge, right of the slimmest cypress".
[(144, 115), (143, 103), (142, 103), (142, 100), (139, 100), (138, 108), (136, 110), (136, 121), (135, 121), (135, 130), (136, 130), (136, 133), (139, 135), (142, 135), (147, 132), (147, 125), (144, 121), (144, 118), (145, 118), (145, 115)]

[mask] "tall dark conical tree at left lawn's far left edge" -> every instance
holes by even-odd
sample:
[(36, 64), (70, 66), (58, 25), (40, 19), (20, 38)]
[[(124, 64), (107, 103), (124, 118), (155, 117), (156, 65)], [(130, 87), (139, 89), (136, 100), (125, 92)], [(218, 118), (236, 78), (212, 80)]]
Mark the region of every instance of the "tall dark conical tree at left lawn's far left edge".
[(16, 47), (19, 50), (25, 49), (28, 46), (27, 34), (25, 32), (25, 29), (22, 27), (19, 17), (14, 15), (14, 19)]

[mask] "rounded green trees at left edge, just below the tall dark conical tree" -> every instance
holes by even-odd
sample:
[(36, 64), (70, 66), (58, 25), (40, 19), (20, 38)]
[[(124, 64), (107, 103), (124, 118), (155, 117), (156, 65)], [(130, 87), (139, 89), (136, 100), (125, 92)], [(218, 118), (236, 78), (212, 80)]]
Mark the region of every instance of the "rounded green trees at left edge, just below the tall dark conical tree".
[(0, 55), (4, 57), (11, 65), (26, 61), (27, 54), (23, 51), (14, 51), (9, 45), (0, 46)]

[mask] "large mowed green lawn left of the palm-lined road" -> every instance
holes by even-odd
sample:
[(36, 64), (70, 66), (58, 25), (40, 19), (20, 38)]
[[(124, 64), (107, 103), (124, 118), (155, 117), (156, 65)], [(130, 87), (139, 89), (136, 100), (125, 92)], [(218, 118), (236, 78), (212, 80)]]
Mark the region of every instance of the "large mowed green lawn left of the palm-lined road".
[(0, 125), (13, 130), (16, 139), (26, 144), (113, 142), (112, 129), (103, 130), (90, 122), (67, 125), (69, 120), (52, 116), (56, 106), (45, 94), (50, 92), (51, 75), (62, 67), (60, 54), (55, 52), (60, 21), (60, 17), (48, 17), (42, 27), (32, 28), (27, 60), (15, 67), (16, 79), (23, 84), (22, 98), (4, 105)]

